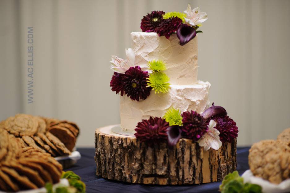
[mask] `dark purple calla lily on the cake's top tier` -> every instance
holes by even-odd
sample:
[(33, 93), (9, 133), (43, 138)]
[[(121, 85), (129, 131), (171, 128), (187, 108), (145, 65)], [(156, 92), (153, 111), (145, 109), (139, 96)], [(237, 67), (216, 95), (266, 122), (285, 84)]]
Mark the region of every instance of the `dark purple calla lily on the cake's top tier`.
[(181, 24), (176, 31), (176, 35), (180, 40), (179, 44), (183, 46), (196, 36), (196, 30), (187, 24)]

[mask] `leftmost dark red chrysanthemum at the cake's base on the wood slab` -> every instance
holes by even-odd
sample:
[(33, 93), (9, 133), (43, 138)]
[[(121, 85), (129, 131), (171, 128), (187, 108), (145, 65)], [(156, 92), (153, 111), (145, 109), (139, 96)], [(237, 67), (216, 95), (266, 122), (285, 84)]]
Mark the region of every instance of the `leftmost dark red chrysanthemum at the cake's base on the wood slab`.
[(141, 142), (148, 143), (150, 146), (160, 143), (160, 140), (166, 141), (168, 138), (166, 132), (169, 124), (160, 117), (155, 117), (154, 119), (150, 117), (149, 120), (144, 119), (136, 127), (136, 133), (134, 134), (136, 138)]

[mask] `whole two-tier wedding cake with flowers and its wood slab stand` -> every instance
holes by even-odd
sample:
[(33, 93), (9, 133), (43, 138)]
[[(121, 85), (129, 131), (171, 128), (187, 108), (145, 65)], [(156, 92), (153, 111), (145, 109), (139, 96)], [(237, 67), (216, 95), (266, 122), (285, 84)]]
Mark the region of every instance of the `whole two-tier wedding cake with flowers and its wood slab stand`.
[[(120, 96), (119, 125), (96, 129), (96, 174), (143, 184), (198, 184), (236, 169), (238, 128), (210, 105), (198, 80), (197, 7), (152, 11), (132, 32), (126, 59), (112, 56), (111, 90)], [(204, 64), (203, 64), (204, 65)]]

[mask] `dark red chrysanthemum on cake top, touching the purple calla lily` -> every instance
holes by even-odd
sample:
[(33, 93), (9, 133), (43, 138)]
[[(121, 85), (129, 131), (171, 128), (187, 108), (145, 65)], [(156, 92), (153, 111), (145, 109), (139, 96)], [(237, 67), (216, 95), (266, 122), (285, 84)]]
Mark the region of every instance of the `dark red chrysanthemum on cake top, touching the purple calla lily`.
[(159, 36), (165, 36), (167, 39), (173, 34), (181, 25), (182, 19), (178, 17), (171, 17), (163, 19), (162, 22), (156, 27), (156, 32)]

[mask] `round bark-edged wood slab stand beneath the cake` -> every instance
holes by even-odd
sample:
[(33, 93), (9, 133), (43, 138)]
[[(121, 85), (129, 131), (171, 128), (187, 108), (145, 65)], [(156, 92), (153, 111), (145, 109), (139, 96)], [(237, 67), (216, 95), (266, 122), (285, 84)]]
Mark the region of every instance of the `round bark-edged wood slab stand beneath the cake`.
[(96, 129), (97, 175), (143, 184), (200, 184), (221, 181), (236, 170), (236, 140), (219, 150), (204, 151), (198, 143), (180, 139), (172, 149), (167, 143), (154, 148), (135, 137), (111, 132), (110, 125)]

